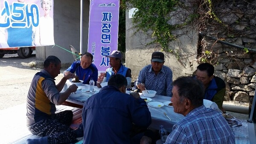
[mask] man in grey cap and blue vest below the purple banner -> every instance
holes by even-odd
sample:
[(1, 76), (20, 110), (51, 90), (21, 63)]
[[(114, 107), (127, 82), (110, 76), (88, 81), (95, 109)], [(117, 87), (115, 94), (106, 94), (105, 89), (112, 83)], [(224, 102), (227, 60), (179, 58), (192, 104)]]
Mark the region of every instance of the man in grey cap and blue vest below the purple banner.
[[(131, 87), (131, 69), (125, 67), (122, 65), (122, 53), (119, 51), (114, 50), (111, 55), (107, 55), (106, 57), (109, 57), (109, 64), (110, 68), (106, 69), (105, 77), (103, 78), (102, 82), (108, 82), (108, 79), (111, 77), (111, 75), (121, 74), (125, 76), (127, 80), (127, 87)], [(100, 83), (97, 82), (97, 86), (100, 86)]]

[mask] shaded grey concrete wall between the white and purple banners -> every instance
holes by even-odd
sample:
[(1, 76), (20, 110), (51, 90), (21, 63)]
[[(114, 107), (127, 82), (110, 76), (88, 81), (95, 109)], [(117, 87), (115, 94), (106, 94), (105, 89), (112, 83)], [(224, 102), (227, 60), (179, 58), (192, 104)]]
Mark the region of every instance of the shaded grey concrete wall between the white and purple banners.
[[(90, 2), (84, 0), (83, 12), (83, 52), (87, 52), (88, 24)], [(80, 0), (54, 0), (54, 40), (69, 51), (69, 45), (80, 49)], [(44, 61), (49, 55), (55, 55), (63, 66), (74, 61), (70, 52), (58, 46), (41, 46), (36, 48), (36, 60)]]

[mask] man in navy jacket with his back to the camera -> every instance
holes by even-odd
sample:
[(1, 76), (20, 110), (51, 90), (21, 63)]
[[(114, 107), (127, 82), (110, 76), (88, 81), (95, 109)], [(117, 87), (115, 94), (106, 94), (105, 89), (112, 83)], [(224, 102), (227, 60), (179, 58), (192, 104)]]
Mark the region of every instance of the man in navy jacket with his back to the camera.
[(104, 86), (84, 103), (83, 144), (132, 144), (133, 124), (144, 128), (151, 124), (146, 102), (137, 92), (126, 94), (126, 86), (127, 81), (123, 75), (112, 75), (108, 86)]

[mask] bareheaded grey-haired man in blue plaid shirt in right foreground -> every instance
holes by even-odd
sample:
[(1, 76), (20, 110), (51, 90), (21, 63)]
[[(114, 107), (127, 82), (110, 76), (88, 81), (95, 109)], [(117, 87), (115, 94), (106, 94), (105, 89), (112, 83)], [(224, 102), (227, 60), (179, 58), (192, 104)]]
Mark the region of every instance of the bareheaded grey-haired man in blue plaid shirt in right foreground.
[(203, 104), (200, 81), (180, 77), (173, 82), (174, 112), (185, 116), (173, 126), (165, 144), (235, 144), (235, 134), (221, 113)]

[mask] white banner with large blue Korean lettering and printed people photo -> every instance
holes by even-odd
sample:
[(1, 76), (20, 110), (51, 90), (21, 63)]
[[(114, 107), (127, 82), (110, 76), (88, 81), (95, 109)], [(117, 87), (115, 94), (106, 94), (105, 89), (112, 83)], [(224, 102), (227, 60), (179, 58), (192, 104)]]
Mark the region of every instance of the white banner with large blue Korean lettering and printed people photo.
[(0, 0), (0, 48), (54, 45), (53, 0)]

